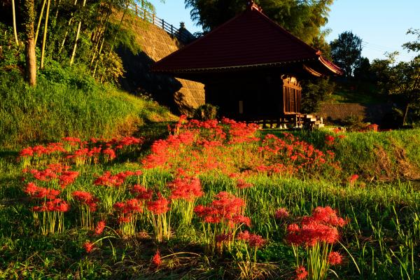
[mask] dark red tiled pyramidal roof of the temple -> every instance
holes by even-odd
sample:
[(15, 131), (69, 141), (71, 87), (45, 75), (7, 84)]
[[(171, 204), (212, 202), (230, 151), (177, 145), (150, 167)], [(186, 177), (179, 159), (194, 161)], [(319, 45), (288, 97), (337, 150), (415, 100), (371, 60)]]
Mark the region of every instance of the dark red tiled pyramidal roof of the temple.
[(167, 73), (206, 72), (309, 61), (321, 62), (327, 73), (341, 73), (317, 50), (251, 8), (164, 57), (152, 69)]

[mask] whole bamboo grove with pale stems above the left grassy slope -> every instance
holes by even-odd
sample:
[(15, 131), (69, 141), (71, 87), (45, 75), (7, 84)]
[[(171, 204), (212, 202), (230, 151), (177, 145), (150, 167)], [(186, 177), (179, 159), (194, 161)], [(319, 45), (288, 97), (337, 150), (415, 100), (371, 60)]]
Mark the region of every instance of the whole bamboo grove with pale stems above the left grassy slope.
[(131, 13), (129, 6), (136, 4), (154, 10), (150, 2), (135, 0), (7, 0), (0, 6), (0, 13), (6, 15), (0, 20), (5, 29), (1, 45), (15, 50), (15, 56), (23, 57), (25, 52), (26, 76), (31, 57), (36, 62), (34, 71), (82, 64), (102, 83), (116, 82), (124, 72), (116, 48), (123, 45), (139, 51), (132, 31), (122, 28)]

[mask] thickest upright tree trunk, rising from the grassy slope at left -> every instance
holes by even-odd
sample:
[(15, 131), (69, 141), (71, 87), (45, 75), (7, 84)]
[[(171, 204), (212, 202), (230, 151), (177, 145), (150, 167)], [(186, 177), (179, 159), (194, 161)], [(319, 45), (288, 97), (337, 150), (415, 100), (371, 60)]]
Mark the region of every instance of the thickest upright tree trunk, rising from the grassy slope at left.
[(36, 85), (36, 55), (34, 41), (34, 0), (24, 1), (25, 10), (25, 80), (34, 87)]

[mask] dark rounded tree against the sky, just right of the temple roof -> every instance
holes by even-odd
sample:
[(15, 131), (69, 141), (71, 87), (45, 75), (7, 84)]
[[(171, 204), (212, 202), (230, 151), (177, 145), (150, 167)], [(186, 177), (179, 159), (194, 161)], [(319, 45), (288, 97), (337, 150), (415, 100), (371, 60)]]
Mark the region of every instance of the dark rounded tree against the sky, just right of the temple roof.
[(340, 66), (347, 77), (353, 76), (353, 71), (360, 63), (362, 39), (351, 31), (344, 31), (330, 43), (332, 60)]

